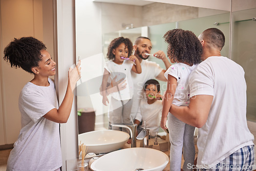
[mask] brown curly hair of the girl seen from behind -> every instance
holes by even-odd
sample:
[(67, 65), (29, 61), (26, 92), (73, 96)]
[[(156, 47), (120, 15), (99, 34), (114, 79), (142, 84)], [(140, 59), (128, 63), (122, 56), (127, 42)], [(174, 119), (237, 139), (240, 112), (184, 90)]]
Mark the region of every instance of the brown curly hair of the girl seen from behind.
[(163, 38), (168, 44), (167, 55), (175, 62), (187, 62), (189, 65), (201, 62), (203, 47), (197, 36), (188, 30), (167, 31)]

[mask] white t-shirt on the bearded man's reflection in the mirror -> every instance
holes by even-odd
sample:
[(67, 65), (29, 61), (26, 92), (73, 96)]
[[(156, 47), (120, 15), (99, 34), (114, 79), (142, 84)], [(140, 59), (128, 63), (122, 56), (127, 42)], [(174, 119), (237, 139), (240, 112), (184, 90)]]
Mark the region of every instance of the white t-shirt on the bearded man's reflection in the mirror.
[(140, 74), (132, 72), (134, 94), (131, 116), (133, 118), (135, 118), (137, 114), (140, 100), (144, 98), (143, 86), (145, 82), (149, 79), (155, 79), (163, 71), (163, 69), (156, 62), (153, 61), (142, 60), (140, 65), (142, 70)]

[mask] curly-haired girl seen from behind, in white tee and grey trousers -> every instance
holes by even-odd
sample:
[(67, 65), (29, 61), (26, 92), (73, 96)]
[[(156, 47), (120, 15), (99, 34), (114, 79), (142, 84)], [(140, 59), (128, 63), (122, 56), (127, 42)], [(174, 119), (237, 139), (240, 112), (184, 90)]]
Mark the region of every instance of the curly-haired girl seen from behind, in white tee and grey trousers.
[[(188, 77), (191, 71), (201, 62), (203, 49), (197, 36), (187, 30), (169, 30), (164, 35), (168, 44), (167, 55), (171, 62), (177, 62), (164, 73), (167, 78), (167, 89), (164, 95), (161, 127), (169, 129), (170, 140), (170, 170), (180, 171), (182, 147), (184, 149), (183, 170), (192, 170), (195, 160), (194, 131), (195, 127), (188, 125), (171, 113), (170, 106), (189, 104)], [(190, 164), (190, 167), (189, 167)]]

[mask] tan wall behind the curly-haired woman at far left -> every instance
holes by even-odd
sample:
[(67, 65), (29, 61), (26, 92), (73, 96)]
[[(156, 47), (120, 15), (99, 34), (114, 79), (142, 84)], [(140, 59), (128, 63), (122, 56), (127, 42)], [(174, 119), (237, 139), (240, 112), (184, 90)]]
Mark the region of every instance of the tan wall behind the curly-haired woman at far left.
[(45, 42), (48, 51), (54, 57), (52, 4), (52, 0), (0, 0), (0, 145), (12, 144), (18, 137), (18, 96), (24, 85), (33, 78), (32, 74), (20, 68), (10, 67), (3, 59), (4, 48), (14, 37), (34, 36)]

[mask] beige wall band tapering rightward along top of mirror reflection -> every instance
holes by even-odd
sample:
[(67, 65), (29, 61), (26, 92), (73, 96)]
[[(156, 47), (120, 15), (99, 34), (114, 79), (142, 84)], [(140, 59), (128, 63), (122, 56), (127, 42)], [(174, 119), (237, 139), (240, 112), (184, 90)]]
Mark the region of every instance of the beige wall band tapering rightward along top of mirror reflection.
[(99, 3), (102, 17), (102, 34), (124, 30), (122, 24), (136, 27), (172, 23), (180, 20), (225, 13), (226, 11), (153, 3), (145, 6)]

